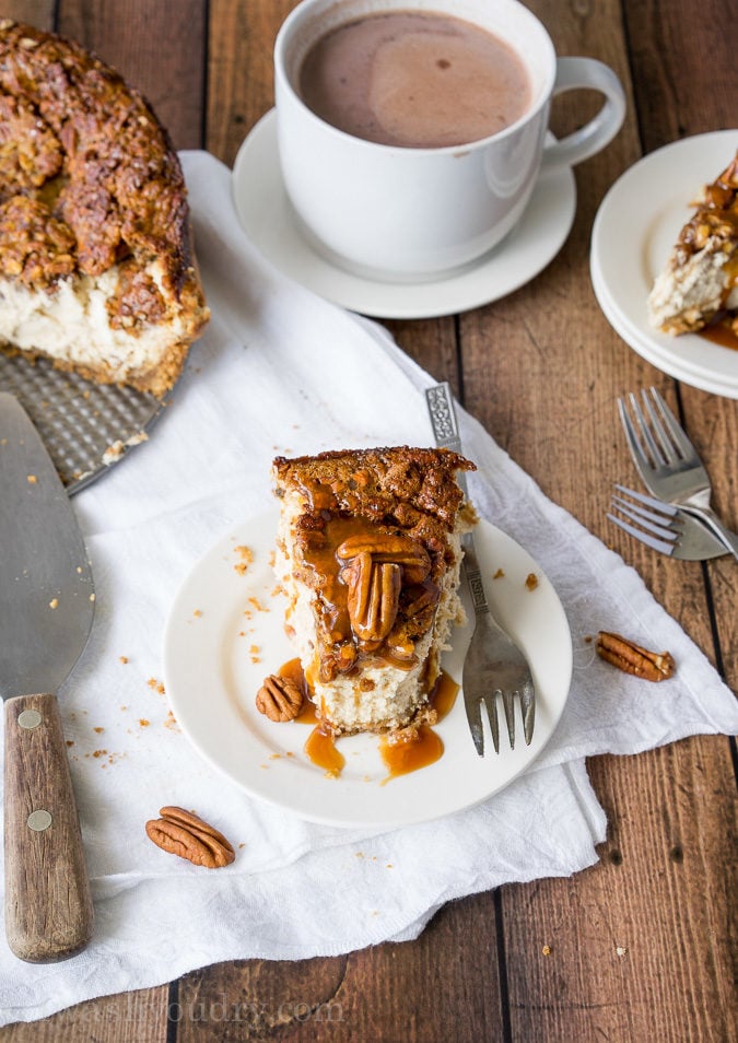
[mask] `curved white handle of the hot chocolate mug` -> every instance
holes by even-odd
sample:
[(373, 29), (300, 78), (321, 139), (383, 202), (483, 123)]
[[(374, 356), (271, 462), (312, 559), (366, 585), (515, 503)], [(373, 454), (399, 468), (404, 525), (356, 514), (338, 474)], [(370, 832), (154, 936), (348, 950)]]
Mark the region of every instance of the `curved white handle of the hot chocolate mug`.
[(544, 147), (542, 171), (574, 166), (589, 159), (609, 144), (622, 126), (625, 92), (612, 69), (596, 58), (557, 59), (557, 78), (551, 97), (582, 87), (600, 91), (605, 95), (605, 104), (584, 127)]

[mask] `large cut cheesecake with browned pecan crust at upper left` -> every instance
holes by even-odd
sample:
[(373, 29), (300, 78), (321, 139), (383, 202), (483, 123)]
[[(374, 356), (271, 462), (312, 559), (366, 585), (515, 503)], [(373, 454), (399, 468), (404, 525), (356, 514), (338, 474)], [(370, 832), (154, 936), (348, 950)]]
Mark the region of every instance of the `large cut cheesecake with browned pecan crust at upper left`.
[(150, 106), (77, 44), (0, 20), (0, 347), (161, 397), (208, 317)]

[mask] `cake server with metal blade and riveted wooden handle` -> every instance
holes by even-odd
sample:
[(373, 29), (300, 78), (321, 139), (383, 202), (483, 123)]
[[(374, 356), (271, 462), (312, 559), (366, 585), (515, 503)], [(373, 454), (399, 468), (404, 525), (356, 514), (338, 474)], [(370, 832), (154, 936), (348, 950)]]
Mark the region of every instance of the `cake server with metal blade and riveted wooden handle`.
[(82, 654), (93, 581), (77, 518), (24, 409), (0, 394), (0, 695), (5, 931), (33, 963), (79, 952), (92, 900), (56, 691)]

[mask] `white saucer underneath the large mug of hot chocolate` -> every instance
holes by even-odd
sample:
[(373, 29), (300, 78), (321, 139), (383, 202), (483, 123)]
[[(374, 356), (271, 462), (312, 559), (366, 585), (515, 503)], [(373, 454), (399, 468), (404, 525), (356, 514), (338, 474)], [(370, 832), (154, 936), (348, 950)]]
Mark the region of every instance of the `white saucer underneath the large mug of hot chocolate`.
[(233, 198), (249, 238), (282, 274), (328, 301), (377, 318), (453, 315), (512, 293), (553, 260), (576, 210), (572, 171), (552, 172), (539, 178), (517, 227), (477, 265), (420, 284), (364, 279), (318, 254), (297, 227), (282, 184), (273, 109), (259, 120), (238, 151)]

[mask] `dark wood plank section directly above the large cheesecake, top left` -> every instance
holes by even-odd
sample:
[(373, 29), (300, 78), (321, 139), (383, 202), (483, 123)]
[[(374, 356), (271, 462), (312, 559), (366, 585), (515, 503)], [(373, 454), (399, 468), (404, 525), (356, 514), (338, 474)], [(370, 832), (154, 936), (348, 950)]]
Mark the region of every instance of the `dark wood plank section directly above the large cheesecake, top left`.
[(175, 149), (203, 143), (206, 0), (61, 0), (58, 32), (118, 70), (147, 97)]

